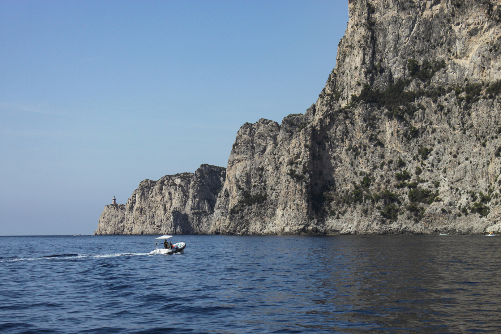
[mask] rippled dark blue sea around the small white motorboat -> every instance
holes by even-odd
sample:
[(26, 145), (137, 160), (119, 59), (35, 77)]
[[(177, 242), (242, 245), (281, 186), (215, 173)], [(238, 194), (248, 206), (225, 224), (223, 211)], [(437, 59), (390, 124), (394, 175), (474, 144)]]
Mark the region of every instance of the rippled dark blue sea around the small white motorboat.
[(501, 236), (0, 237), (2, 333), (501, 332)]

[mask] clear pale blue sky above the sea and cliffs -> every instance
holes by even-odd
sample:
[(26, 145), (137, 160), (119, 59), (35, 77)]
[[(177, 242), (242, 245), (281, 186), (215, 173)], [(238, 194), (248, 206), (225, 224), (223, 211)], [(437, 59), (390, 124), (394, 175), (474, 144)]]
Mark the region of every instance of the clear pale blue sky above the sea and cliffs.
[(0, 0), (0, 235), (92, 234), (142, 180), (226, 167), (245, 122), (315, 103), (347, 22), (347, 0)]

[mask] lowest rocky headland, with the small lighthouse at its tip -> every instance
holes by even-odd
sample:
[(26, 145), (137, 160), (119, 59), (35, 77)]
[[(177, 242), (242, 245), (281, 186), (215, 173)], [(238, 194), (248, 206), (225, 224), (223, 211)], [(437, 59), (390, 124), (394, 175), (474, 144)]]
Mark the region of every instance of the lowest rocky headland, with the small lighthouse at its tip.
[(105, 207), (94, 234), (209, 233), (225, 174), (223, 167), (204, 164), (195, 173), (144, 180), (126, 205)]

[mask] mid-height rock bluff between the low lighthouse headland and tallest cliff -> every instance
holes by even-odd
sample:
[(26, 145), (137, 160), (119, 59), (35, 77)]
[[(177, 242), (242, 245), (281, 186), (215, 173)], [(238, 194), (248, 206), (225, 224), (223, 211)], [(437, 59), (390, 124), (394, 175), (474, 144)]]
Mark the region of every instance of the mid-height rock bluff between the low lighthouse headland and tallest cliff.
[(309, 158), (307, 135), (294, 123), (302, 118), (291, 117), (282, 126), (261, 119), (240, 128), (217, 198), (214, 233), (296, 234), (310, 224), (304, 184), (288, 175), (291, 158)]

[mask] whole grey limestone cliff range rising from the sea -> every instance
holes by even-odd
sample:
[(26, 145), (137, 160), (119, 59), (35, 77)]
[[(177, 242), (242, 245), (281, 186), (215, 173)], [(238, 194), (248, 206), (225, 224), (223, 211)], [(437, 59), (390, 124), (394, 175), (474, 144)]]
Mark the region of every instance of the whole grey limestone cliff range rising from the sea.
[[(193, 218), (174, 223), (172, 206), (141, 190), (143, 181), (127, 202), (123, 232), (113, 231), (499, 229), (501, 4), (353, 0), (349, 12), (317, 102), (280, 125), (261, 119), (240, 128), (206, 219), (179, 206)], [(148, 195), (139, 201), (140, 193)]]

